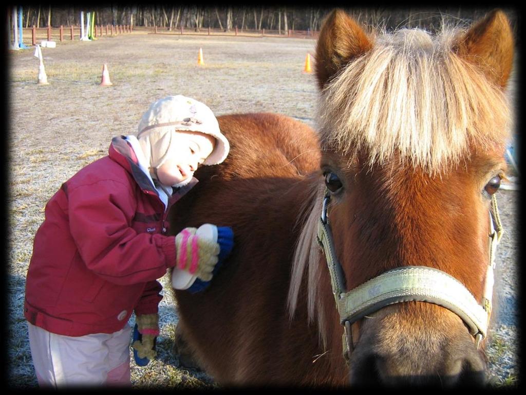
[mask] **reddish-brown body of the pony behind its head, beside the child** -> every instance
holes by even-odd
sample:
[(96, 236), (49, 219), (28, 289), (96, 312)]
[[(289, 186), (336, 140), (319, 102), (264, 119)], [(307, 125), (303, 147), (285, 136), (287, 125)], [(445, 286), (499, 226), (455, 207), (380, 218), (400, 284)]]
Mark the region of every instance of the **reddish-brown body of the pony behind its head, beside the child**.
[[(179, 324), (218, 382), (301, 382), (305, 370), (295, 377), (284, 369), (281, 380), (265, 375), (272, 371), (269, 364), (304, 351), (279, 342), (288, 338), (284, 331), (294, 330), (286, 308), (290, 262), (307, 191), (319, 176), (317, 135), (276, 114), (225, 115), (218, 121), (230, 153), (220, 165), (198, 169), (199, 183), (170, 213), (170, 232), (206, 222), (228, 225), (235, 246), (208, 289), (194, 295), (176, 291)], [(308, 336), (304, 328), (297, 335)], [(272, 353), (268, 344), (277, 345)], [(313, 355), (316, 347), (315, 342)], [(296, 361), (289, 362), (297, 370)]]

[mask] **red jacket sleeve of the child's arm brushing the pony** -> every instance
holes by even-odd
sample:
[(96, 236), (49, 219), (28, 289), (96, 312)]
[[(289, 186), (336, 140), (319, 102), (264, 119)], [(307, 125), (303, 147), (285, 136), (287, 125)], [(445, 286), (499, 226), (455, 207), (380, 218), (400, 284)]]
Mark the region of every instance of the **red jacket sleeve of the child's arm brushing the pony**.
[(88, 269), (116, 284), (155, 280), (176, 264), (174, 236), (131, 228), (136, 204), (125, 182), (103, 180), (68, 191), (69, 228), (80, 256)]

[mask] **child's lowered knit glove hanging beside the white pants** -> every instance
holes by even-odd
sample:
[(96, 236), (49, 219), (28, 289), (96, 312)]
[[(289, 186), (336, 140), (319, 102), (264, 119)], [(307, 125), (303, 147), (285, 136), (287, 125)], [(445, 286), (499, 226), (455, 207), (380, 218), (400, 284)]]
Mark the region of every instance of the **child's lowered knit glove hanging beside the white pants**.
[(159, 316), (141, 314), (135, 317), (133, 333), (134, 358), (139, 366), (146, 366), (151, 359), (157, 357), (155, 345), (159, 335)]

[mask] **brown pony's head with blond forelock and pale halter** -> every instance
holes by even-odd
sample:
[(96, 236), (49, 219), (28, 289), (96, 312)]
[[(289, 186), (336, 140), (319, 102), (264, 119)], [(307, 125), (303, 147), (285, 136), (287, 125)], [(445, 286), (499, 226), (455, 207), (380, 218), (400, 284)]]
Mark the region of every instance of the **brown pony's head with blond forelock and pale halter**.
[[(345, 329), (351, 384), (482, 381), (512, 57), (500, 11), (434, 36), (368, 34), (342, 11), (323, 25), (323, 178), (293, 272), (308, 266), (309, 314), (326, 347), (341, 349), (331, 339)], [(329, 231), (317, 231), (321, 213)], [(339, 261), (332, 278), (316, 232)], [(319, 286), (331, 281), (333, 293)], [(299, 288), (291, 286), (291, 311)], [(391, 293), (367, 301), (382, 292)], [(361, 302), (364, 310), (350, 311)]]

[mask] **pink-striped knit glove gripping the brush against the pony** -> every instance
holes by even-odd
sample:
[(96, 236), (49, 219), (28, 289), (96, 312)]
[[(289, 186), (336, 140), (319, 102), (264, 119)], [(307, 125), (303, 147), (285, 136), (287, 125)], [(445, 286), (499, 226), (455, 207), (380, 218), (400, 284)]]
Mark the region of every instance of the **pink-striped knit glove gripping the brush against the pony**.
[(196, 231), (196, 228), (185, 228), (175, 236), (176, 265), (178, 269), (195, 274), (198, 279), (210, 281), (218, 261), (219, 244), (199, 238)]

